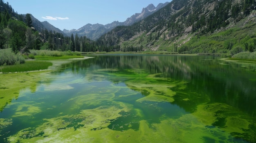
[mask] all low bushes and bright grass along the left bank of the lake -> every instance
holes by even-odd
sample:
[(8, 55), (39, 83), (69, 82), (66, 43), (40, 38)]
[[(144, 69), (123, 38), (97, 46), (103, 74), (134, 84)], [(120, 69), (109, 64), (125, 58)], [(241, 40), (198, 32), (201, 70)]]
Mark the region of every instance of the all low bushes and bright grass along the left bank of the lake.
[[(83, 58), (79, 52), (61, 52), (61, 51), (49, 51), (49, 50), (31, 50), (31, 53), (27, 56), (29, 59), (36, 60), (56, 60), (56, 59), (73, 59)], [(2, 73), (15, 73), (15, 72), (27, 72), (35, 70), (45, 70), (49, 66), (52, 66), (51, 62), (39, 62), (39, 61), (26, 61), (22, 55), (14, 54), (11, 49), (0, 50), (0, 72)]]

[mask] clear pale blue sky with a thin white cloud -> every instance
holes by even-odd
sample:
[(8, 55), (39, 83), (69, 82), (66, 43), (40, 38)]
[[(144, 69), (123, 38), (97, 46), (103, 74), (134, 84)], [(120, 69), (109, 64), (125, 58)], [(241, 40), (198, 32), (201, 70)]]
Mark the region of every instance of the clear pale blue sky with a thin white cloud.
[(144, 7), (171, 0), (4, 0), (18, 14), (32, 14), (58, 29), (79, 29), (90, 24), (124, 22)]

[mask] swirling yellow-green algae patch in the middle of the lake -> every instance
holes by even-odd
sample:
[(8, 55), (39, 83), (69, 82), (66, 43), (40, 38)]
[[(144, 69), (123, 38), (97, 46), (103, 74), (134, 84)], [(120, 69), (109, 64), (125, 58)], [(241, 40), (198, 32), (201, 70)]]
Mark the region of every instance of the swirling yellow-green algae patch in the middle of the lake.
[[(118, 70), (94, 70), (96, 74), (90, 75), (94, 77), (94, 80), (102, 81), (105, 76), (109, 75), (108, 78), (113, 81), (124, 81), (128, 88), (141, 92), (145, 97), (137, 99), (138, 102), (142, 101), (156, 101), (156, 102), (173, 102), (173, 96), (176, 92), (172, 88), (185, 89), (186, 82), (184, 81), (173, 81), (171, 78), (161, 77), (161, 73), (150, 74), (147, 70), (142, 69), (127, 69), (125, 71)], [(109, 73), (108, 71), (117, 71), (115, 73)], [(119, 81), (119, 82), (120, 82)]]

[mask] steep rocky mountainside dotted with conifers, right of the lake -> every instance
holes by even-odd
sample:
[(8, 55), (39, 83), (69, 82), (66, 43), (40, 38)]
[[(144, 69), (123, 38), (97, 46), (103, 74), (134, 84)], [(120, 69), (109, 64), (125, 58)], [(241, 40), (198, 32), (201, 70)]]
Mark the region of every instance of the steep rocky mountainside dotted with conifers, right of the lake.
[(172, 0), (139, 22), (115, 27), (97, 42), (112, 51), (116, 46), (121, 51), (169, 53), (255, 51), (254, 9), (254, 0)]

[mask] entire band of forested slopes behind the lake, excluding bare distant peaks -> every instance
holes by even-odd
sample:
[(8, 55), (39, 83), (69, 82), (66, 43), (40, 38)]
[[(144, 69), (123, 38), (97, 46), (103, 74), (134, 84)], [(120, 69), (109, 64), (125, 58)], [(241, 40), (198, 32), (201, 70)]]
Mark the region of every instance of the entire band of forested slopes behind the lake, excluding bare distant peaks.
[(164, 51), (231, 56), (256, 51), (254, 0), (172, 0), (130, 26), (117, 26), (98, 40), (56, 31), (38, 31), (31, 14), (18, 14), (0, 0), (0, 48), (57, 51)]

